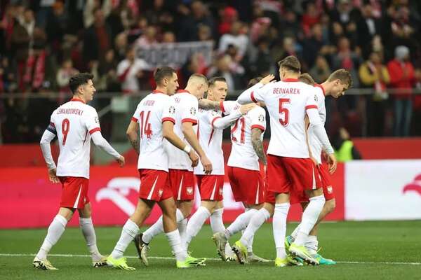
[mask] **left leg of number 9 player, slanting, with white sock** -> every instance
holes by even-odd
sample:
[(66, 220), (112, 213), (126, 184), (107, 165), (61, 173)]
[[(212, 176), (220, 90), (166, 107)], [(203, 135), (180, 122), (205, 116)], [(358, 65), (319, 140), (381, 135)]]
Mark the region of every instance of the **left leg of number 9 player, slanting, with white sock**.
[(47, 260), (47, 255), (51, 248), (58, 242), (63, 232), (65, 232), (67, 221), (72, 219), (73, 213), (74, 209), (60, 207), (58, 214), (54, 217), (48, 227), (47, 235), (41, 245), (41, 248), (39, 248), (39, 251), (34, 258), (33, 265), (35, 268), (44, 270), (57, 269)]

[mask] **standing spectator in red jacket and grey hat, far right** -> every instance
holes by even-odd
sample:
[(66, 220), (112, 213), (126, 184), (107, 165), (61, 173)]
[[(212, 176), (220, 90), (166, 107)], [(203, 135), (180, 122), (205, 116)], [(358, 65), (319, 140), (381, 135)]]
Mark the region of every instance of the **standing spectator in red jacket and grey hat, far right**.
[(409, 49), (399, 45), (395, 49), (395, 59), (387, 64), (390, 75), (390, 85), (394, 89), (402, 90), (394, 94), (394, 136), (409, 135), (410, 120), (412, 118), (412, 94), (414, 67), (409, 62)]

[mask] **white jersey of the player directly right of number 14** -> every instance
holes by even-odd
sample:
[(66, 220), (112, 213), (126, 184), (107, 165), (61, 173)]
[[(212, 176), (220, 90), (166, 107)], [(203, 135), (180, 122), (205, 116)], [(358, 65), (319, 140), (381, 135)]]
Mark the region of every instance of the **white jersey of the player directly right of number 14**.
[[(186, 90), (179, 90), (177, 94), (172, 96), (172, 98), (175, 102), (174, 133), (177, 134), (177, 136), (180, 137), (186, 145), (189, 145), (182, 133), (182, 123), (189, 122), (193, 125), (197, 124), (199, 102), (194, 95), (189, 94)], [(175, 147), (167, 140), (164, 142), (169, 156), (168, 168), (193, 171), (192, 160), (190, 160), (189, 155), (187, 155), (185, 151), (181, 151), (179, 148)]]

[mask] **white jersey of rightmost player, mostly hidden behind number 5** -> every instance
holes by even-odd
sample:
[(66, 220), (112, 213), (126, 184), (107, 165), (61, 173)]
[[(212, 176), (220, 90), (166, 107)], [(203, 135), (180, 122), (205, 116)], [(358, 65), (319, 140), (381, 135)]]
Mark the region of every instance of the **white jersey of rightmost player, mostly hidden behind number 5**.
[[(323, 126), (324, 126), (326, 122), (326, 105), (325, 105), (324, 89), (323, 87), (321, 87), (321, 85), (316, 84), (314, 85), (314, 92), (316, 94), (316, 102), (317, 102), (317, 107), (319, 109), (319, 116), (321, 119), (321, 123), (323, 123)], [(323, 148), (323, 145), (321, 144), (321, 141), (314, 134), (314, 129), (311, 125), (309, 126), (309, 129), (307, 130), (307, 134), (309, 137), (310, 151), (312, 151), (312, 155), (317, 160), (317, 162), (321, 164), (321, 150)]]

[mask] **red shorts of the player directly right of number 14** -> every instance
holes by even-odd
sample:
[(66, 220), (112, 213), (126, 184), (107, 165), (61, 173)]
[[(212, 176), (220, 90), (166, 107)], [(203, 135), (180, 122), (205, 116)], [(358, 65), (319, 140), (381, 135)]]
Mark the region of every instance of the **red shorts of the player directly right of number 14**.
[(189, 170), (169, 169), (174, 200), (194, 200), (194, 174)]

